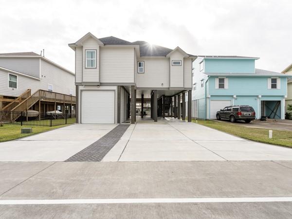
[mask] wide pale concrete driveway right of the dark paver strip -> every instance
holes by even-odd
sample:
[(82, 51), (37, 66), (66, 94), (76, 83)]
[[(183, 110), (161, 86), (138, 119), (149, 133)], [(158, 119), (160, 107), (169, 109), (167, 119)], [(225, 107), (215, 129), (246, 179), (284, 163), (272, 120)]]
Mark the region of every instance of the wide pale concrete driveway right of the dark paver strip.
[(247, 141), (195, 123), (137, 120), (104, 157), (132, 161), (291, 161), (292, 149)]

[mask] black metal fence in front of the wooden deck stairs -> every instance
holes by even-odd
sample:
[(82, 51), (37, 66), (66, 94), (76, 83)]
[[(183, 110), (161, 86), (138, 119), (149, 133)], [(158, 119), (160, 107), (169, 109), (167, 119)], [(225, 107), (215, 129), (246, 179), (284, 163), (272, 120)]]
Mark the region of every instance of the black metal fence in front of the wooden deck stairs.
[(0, 111), (0, 123), (18, 126), (59, 126), (73, 124), (76, 114), (73, 113), (39, 113)]

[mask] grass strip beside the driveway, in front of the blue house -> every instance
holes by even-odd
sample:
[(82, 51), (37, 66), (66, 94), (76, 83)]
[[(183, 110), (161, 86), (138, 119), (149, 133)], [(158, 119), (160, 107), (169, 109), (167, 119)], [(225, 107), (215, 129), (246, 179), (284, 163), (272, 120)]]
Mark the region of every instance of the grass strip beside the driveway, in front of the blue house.
[[(192, 122), (196, 122), (192, 120)], [(273, 138), (269, 138), (269, 129), (248, 128), (237, 124), (198, 120), (198, 124), (224, 131), (241, 138), (272, 145), (292, 147), (292, 131), (273, 130)]]

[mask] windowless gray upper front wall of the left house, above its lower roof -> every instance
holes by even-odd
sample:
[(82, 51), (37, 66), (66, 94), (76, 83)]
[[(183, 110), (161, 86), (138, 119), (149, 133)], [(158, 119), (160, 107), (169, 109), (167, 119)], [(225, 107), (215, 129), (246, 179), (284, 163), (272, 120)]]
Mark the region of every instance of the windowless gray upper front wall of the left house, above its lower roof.
[(40, 58), (9, 58), (0, 57), (0, 66), (19, 73), (24, 73), (39, 78)]

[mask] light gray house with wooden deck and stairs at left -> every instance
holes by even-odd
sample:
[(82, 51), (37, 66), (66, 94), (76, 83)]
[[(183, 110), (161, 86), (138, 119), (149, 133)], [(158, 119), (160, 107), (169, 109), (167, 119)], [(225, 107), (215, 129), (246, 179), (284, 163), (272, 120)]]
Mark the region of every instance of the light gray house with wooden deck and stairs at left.
[[(33, 52), (0, 54), (0, 110), (22, 111), (17, 107), (34, 93), (43, 104), (30, 102), (28, 109), (41, 112), (64, 110), (73, 112), (75, 105), (75, 74)], [(56, 102), (56, 103), (55, 103)], [(24, 104), (22, 104), (24, 105)], [(69, 106), (73, 106), (69, 109)], [(27, 110), (27, 109), (26, 109)]]

